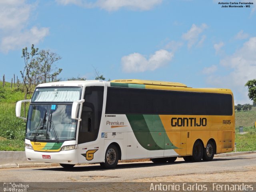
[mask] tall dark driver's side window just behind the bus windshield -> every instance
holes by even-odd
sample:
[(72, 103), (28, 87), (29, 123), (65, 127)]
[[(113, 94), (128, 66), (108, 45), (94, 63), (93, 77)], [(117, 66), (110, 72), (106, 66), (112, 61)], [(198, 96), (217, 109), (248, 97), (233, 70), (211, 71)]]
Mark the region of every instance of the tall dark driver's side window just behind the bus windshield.
[(97, 139), (103, 105), (103, 86), (85, 88), (84, 104), (78, 133), (78, 144)]

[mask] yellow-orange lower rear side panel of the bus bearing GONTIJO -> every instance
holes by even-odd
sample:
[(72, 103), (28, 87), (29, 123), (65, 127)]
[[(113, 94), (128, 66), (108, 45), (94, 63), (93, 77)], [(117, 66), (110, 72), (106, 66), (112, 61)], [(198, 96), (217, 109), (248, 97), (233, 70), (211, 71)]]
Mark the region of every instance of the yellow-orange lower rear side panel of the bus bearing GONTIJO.
[[(192, 116), (192, 115), (159, 115), (164, 129), (166, 130), (166, 134), (169, 140), (178, 148), (175, 151), (182, 155), (192, 154), (192, 148), (194, 142), (197, 139), (202, 140), (204, 147), (209, 139), (213, 138), (216, 142), (217, 153), (224, 152), (222, 150), (222, 131), (234, 131), (234, 116)], [(172, 126), (171, 119), (175, 118), (173, 124), (177, 123), (176, 126)], [(182, 126), (178, 126), (178, 118), (179, 122), (182, 122)], [(185, 118), (185, 119), (183, 119)], [(188, 118), (196, 118), (196, 124), (200, 125), (200, 118), (206, 118), (207, 124), (206, 126), (195, 126), (194, 120), (187, 121)], [(230, 120), (230, 124), (223, 124), (223, 120)], [(181, 125), (181, 124), (180, 124)], [(192, 126), (191, 126), (192, 125)], [(189, 138), (188, 138), (189, 132)], [(232, 135), (233, 136), (233, 135)], [(230, 138), (230, 137), (229, 137)], [(185, 143), (186, 145), (181, 143)], [(230, 142), (230, 141), (229, 141)], [(232, 148), (234, 140), (232, 141)], [(186, 148), (186, 150), (185, 150)], [(225, 152), (232, 150), (232, 148), (225, 149)]]

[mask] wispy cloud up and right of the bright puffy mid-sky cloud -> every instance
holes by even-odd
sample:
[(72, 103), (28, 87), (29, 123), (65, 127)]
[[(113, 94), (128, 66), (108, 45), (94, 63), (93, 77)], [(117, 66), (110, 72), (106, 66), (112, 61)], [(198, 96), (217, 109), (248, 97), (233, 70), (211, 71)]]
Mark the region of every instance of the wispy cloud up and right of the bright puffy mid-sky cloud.
[[(199, 40), (199, 36), (200, 34), (207, 28), (206, 24), (202, 24), (201, 26), (196, 26), (195, 24), (192, 24), (192, 27), (190, 28), (190, 30), (188, 30), (188, 32), (184, 33), (182, 35), (182, 38), (184, 40), (188, 41), (188, 48), (191, 48), (194, 44), (196, 44), (196, 42), (198, 42)], [(204, 41), (204, 39), (206, 38), (206, 36), (202, 36), (201, 40), (199, 43), (202, 44), (202, 42)], [(198, 43), (198, 44), (199, 44)]]

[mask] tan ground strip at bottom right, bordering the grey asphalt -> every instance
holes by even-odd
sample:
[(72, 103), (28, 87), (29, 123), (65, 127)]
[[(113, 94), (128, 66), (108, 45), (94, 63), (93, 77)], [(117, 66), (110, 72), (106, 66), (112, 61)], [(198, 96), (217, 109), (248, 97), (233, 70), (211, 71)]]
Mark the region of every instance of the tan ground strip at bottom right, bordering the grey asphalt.
[(177, 176), (163, 176), (155, 178), (143, 178), (130, 182), (255, 182), (256, 167), (245, 172), (223, 172), (212, 174), (188, 174)]

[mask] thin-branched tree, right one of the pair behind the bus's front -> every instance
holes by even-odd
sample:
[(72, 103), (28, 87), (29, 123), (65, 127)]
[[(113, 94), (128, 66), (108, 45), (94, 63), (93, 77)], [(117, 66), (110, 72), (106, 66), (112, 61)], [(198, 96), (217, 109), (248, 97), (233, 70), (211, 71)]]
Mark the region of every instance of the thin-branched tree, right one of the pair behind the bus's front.
[(62, 69), (54, 68), (54, 63), (61, 59), (60, 56), (58, 56), (54, 52), (50, 52), (50, 50), (40, 50), (38, 53), (37, 62), (38, 62), (38, 72), (40, 73), (40, 76), (44, 79), (44, 82), (46, 83), (47, 78), (54, 78), (62, 72)]

